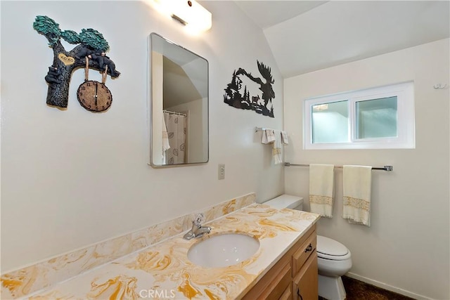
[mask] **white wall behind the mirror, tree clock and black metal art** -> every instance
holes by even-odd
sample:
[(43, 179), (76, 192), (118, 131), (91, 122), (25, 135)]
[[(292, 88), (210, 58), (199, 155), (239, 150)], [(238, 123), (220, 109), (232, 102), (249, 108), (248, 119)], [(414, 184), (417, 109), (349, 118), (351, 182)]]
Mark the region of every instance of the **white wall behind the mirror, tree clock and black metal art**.
[[(87, 7), (86, 7), (87, 6)], [(281, 129), (283, 79), (264, 34), (232, 1), (207, 1), (212, 30), (193, 37), (141, 1), (1, 2), (1, 273), (122, 235), (250, 192), (257, 200), (283, 193), (283, 167), (255, 126)], [(62, 30), (94, 28), (110, 44), (118, 79), (108, 77), (113, 105), (84, 110), (70, 84), (68, 110), (46, 105), (44, 76), (53, 51), (33, 30), (48, 15)], [(147, 42), (150, 32), (210, 62), (210, 162), (148, 166)], [(68, 45), (67, 48), (72, 48)], [(275, 118), (223, 102), (238, 67), (275, 79)], [(90, 79), (100, 74), (89, 72)], [(217, 180), (217, 164), (226, 165)]]

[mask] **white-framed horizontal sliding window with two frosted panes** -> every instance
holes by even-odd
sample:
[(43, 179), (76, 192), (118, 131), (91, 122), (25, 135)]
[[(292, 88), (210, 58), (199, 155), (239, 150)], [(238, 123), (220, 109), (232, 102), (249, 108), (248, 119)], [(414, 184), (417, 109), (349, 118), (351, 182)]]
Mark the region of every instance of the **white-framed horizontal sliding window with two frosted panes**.
[(307, 98), (304, 148), (415, 148), (413, 82)]

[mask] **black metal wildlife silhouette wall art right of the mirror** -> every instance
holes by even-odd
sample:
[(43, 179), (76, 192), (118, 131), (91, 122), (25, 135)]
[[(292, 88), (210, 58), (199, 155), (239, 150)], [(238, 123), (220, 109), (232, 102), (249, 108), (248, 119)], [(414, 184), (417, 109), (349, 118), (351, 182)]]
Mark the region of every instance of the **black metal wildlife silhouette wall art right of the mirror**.
[(239, 68), (234, 70), (231, 83), (226, 86), (224, 103), (243, 110), (255, 110), (264, 116), (274, 117), (275, 98), (270, 67), (257, 60), (258, 70), (262, 78), (253, 77), (251, 73)]

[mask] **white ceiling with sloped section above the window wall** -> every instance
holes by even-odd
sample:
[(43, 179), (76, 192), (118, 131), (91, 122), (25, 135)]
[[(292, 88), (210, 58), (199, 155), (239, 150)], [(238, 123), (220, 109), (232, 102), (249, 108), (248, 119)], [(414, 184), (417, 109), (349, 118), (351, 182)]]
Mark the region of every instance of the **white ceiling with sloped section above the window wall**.
[(235, 1), (283, 77), (450, 36), (450, 1)]

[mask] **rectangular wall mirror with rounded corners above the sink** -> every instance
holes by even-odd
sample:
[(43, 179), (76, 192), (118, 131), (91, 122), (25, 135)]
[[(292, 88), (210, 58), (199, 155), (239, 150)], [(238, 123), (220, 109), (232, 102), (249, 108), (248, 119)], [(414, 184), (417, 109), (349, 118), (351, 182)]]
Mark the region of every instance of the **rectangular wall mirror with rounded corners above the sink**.
[(207, 162), (207, 60), (155, 33), (149, 56), (150, 165)]

